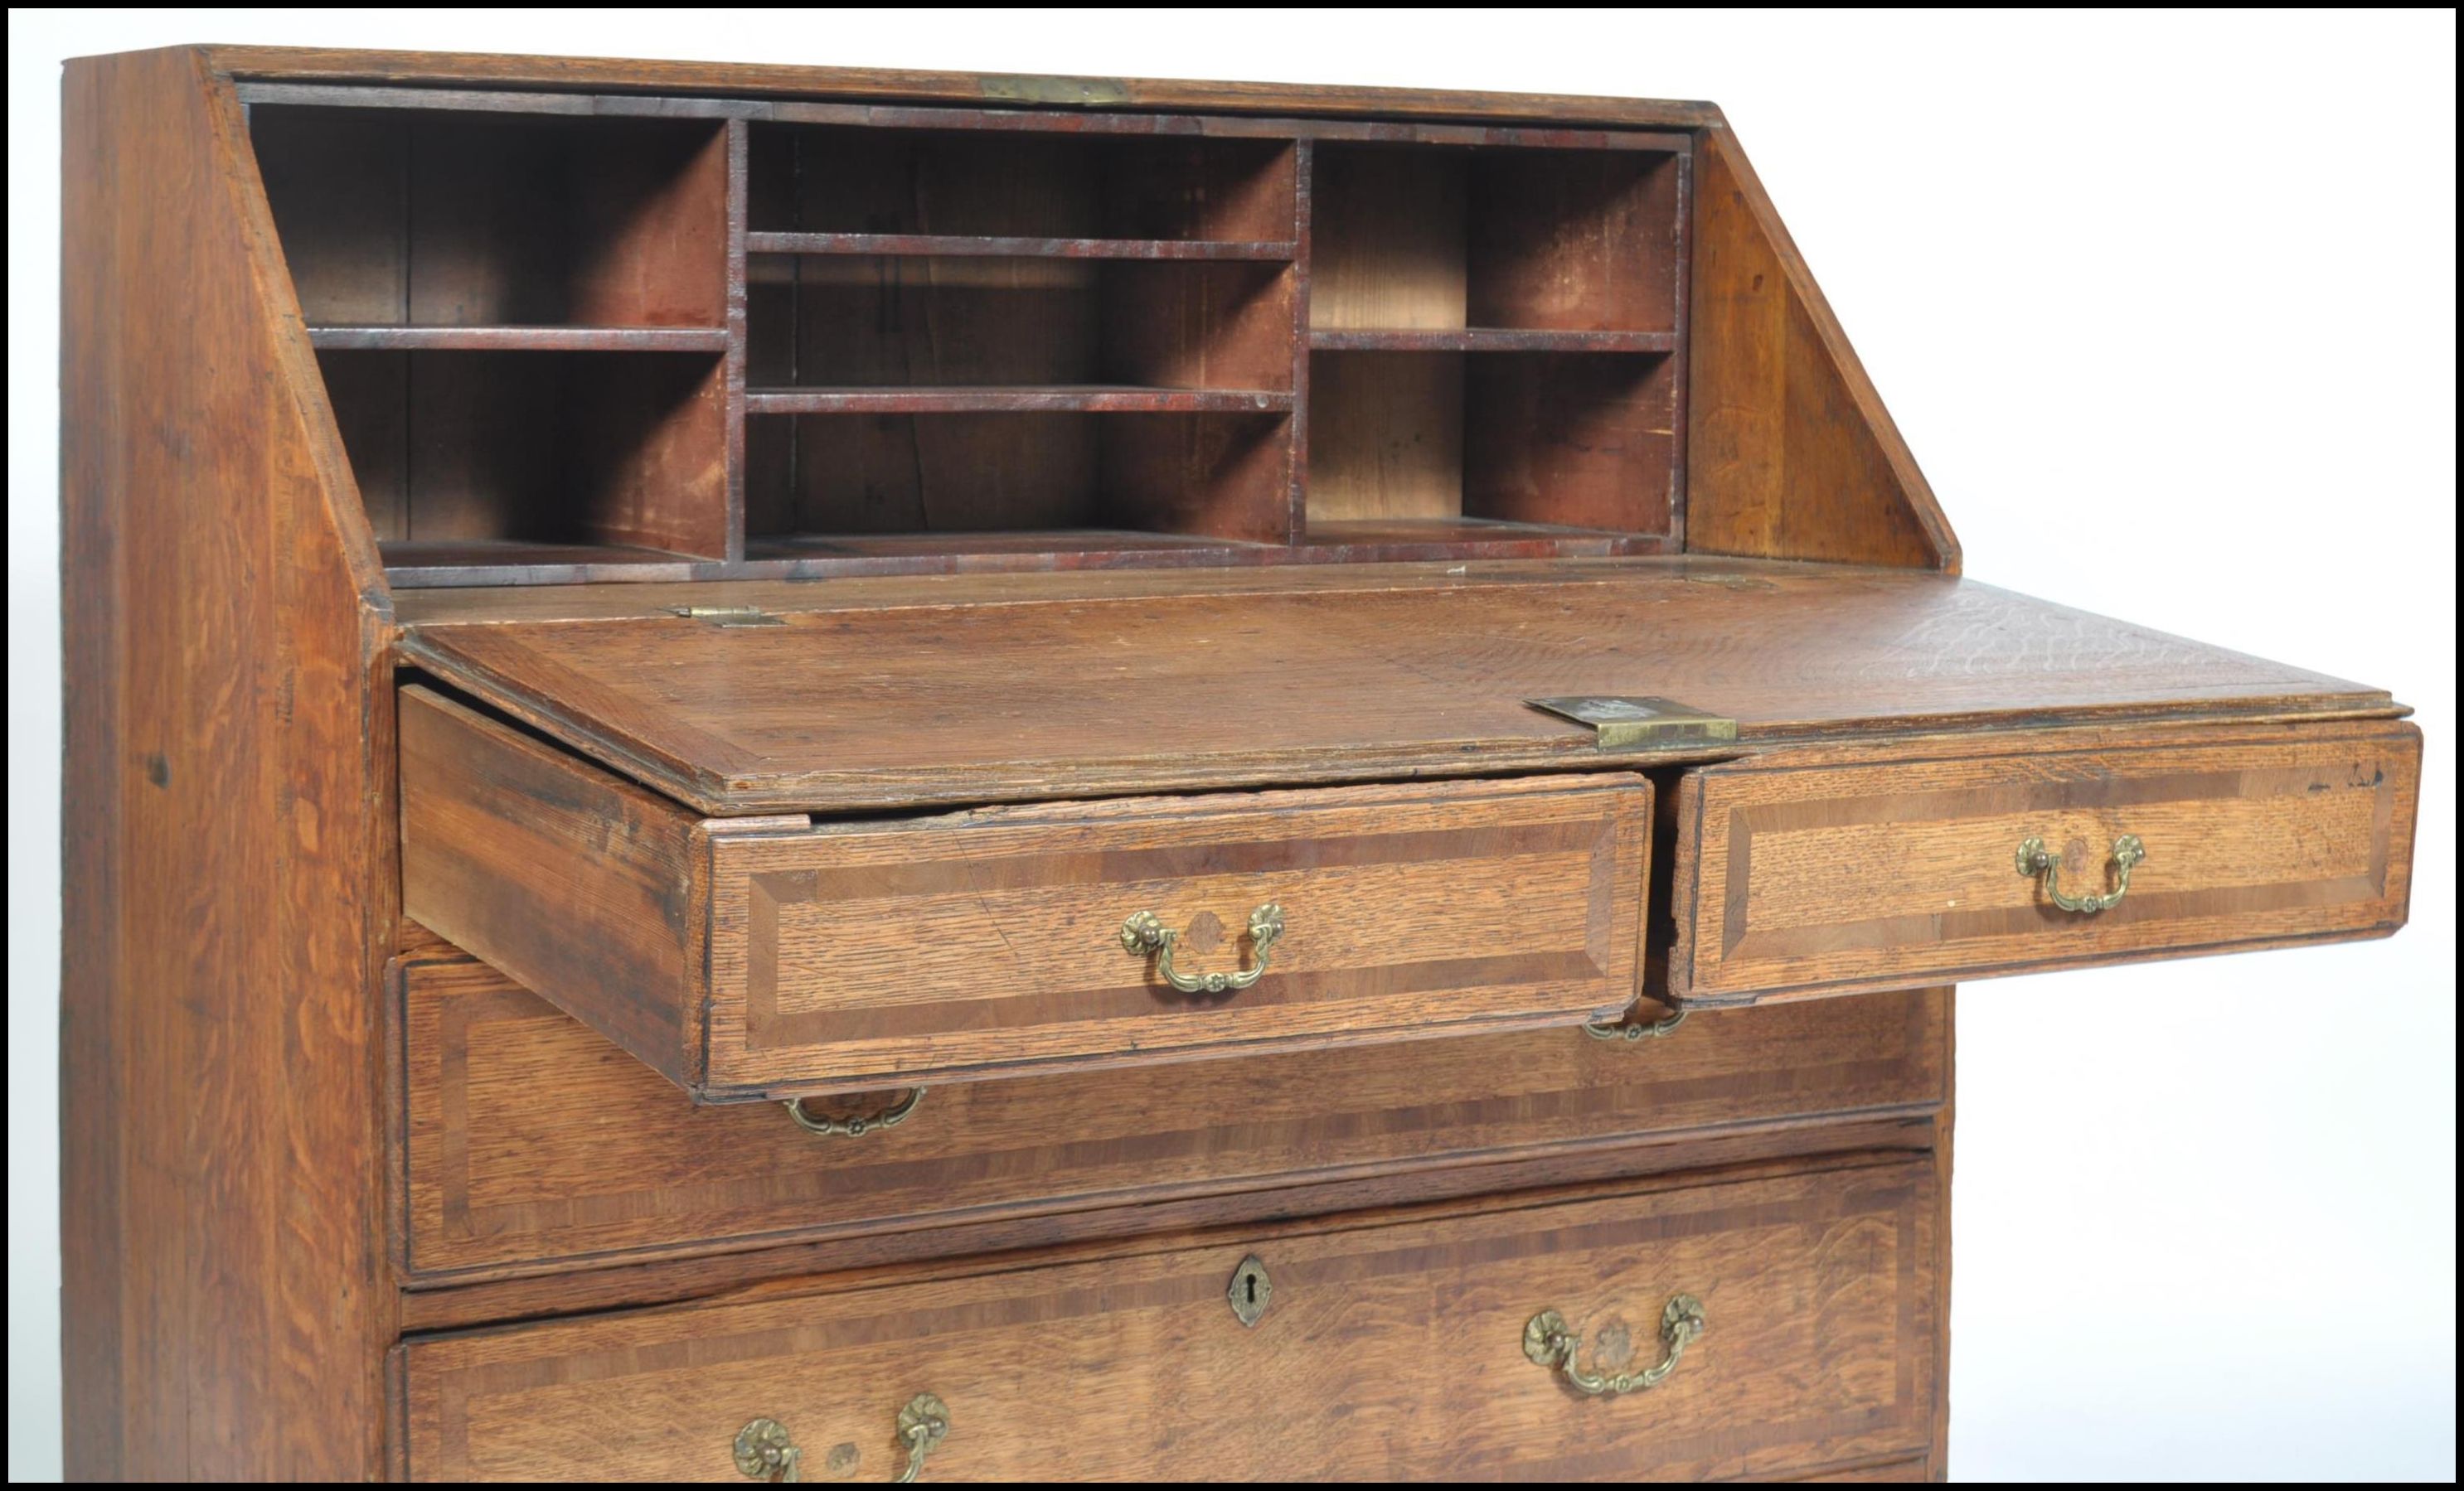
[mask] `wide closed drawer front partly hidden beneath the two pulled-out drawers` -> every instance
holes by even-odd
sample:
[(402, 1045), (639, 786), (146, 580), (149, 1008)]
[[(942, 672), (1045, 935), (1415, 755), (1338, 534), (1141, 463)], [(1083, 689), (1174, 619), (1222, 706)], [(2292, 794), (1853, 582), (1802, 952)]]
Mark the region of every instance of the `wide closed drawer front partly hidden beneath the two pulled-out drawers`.
[(687, 1104), (483, 964), (407, 966), (402, 1020), (407, 1267), (434, 1279), (1372, 1176), (1429, 1195), (1439, 1166), (1634, 1144), (1663, 1153), (1621, 1163), (1668, 1171), (1811, 1146), (1818, 1119), (1929, 1114), (1949, 1070), (1949, 993), (1915, 991), (1712, 1010), (1639, 1042), (1523, 1030), (966, 1082), (892, 1129), (816, 1136), (776, 1104)]

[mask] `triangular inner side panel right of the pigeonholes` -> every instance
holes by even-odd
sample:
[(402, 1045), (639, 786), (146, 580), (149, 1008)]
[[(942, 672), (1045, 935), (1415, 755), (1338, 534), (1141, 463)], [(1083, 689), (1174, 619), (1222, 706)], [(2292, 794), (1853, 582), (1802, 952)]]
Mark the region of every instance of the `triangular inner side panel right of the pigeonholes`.
[(1959, 572), (1959, 540), (1725, 131), (1695, 153), (1685, 542)]

